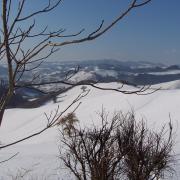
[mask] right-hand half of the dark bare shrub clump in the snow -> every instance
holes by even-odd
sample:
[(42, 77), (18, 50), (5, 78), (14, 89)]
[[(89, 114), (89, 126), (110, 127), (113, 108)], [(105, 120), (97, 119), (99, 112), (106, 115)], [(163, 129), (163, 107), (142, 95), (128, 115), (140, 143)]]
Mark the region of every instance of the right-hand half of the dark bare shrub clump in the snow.
[(143, 120), (137, 122), (132, 113), (121, 118), (125, 123), (118, 128), (117, 140), (119, 149), (125, 154), (122, 164), (128, 179), (153, 180), (173, 172), (172, 124), (169, 123), (169, 130), (163, 126), (160, 132), (154, 132)]

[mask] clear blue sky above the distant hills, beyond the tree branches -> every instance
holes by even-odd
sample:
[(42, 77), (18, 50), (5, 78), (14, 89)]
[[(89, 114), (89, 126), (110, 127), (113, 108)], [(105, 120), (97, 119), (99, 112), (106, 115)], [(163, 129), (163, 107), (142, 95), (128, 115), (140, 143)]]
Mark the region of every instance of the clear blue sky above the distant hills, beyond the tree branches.
[[(35, 2), (38, 2), (35, 3)], [(39, 17), (40, 27), (66, 28), (67, 34), (85, 28), (91, 32), (127, 7), (130, 0), (64, 0), (52, 13)], [(32, 0), (29, 9), (42, 5)], [(61, 39), (59, 40), (61, 41)], [(62, 47), (52, 60), (118, 59), (180, 64), (180, 0), (152, 0), (133, 10), (102, 37)]]

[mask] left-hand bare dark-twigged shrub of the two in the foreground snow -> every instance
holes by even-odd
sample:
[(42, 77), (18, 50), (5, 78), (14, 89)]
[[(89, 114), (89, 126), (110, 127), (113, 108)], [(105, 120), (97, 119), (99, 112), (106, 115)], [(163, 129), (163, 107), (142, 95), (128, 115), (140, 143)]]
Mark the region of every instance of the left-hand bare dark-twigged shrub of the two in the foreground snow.
[(60, 159), (77, 179), (106, 180), (118, 177), (121, 172), (122, 154), (115, 137), (119, 126), (118, 114), (108, 124), (105, 113), (101, 115), (102, 126), (74, 131), (71, 136), (62, 132), (66, 153)]

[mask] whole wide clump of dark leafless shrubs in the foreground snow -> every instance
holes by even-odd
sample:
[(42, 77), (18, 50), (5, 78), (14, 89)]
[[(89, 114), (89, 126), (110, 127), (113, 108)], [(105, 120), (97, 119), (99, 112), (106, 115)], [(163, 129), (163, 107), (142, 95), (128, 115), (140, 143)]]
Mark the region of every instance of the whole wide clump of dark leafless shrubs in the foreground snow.
[(104, 111), (100, 127), (61, 132), (60, 159), (79, 180), (153, 180), (173, 172), (172, 125), (160, 132), (137, 122), (134, 113)]

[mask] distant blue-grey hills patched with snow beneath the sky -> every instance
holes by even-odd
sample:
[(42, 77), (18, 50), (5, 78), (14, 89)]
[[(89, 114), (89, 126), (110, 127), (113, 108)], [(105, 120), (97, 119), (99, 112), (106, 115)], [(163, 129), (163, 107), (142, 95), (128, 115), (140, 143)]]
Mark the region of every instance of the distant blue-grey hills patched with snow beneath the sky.
[[(72, 76), (69, 81), (80, 82), (93, 80), (97, 82), (124, 81), (132, 85), (152, 85), (162, 82), (169, 82), (180, 79), (180, 66), (167, 66), (159, 63), (143, 61), (118, 61), (112, 59), (105, 60), (84, 60), (67, 62), (44, 62), (32, 73), (26, 73), (22, 81), (30, 81), (33, 74), (39, 74), (38, 82), (49, 82), (63, 80), (67, 72), (79, 67), (79, 71)], [(0, 65), (0, 80), (7, 81), (7, 69)], [(67, 86), (62, 84), (52, 84), (38, 87), (48, 93), (55, 92)], [(45, 94), (35, 89), (20, 89), (16, 92), (24, 99), (38, 99)], [(0, 95), (2, 94), (0, 90)], [(22, 98), (18, 98), (22, 99)], [(15, 106), (17, 103), (15, 103)]]

